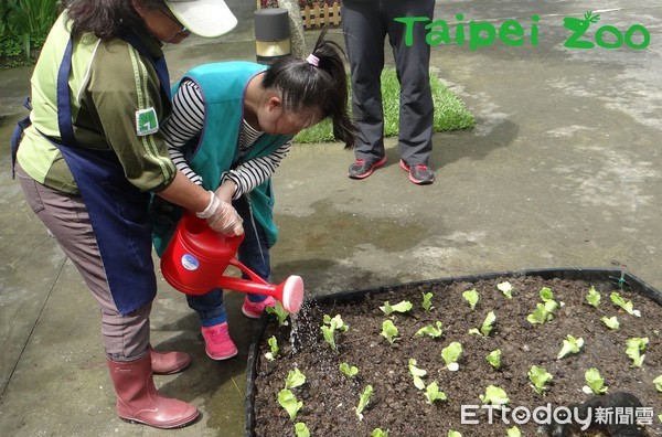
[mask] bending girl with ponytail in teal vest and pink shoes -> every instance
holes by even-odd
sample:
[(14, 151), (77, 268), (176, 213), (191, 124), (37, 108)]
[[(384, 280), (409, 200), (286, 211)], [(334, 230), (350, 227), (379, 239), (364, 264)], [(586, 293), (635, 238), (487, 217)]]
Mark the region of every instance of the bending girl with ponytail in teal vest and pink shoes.
[[(286, 57), (266, 67), (249, 62), (201, 65), (184, 75), (163, 128), (171, 158), (184, 174), (244, 220), (239, 260), (270, 281), (269, 248), (276, 243), (270, 177), (288, 154), (292, 137), (329, 117), (337, 139), (354, 146), (348, 116), (348, 83), (340, 46), (320, 34), (306, 60)], [(172, 230), (170, 230), (172, 231)], [(156, 235), (157, 251), (164, 249)], [(168, 239), (168, 237), (166, 237)], [(186, 296), (201, 319), (207, 355), (237, 354), (229, 338), (223, 290)], [(274, 298), (247, 295), (242, 312), (258, 318)]]

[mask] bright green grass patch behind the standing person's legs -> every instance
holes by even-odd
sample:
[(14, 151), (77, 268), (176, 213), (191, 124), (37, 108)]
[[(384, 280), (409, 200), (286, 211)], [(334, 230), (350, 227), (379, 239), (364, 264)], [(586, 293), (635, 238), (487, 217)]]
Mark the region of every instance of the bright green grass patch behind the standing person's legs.
[[(448, 89), (435, 74), (430, 75), (430, 87), (433, 89), (433, 102), (435, 103), (436, 132), (470, 129), (476, 126), (473, 115), (467, 110), (462, 100)], [(385, 68), (382, 73), (382, 102), (384, 105), (384, 136), (397, 136), (399, 126), (399, 84), (394, 68)], [(331, 120), (325, 119), (299, 132), (295, 137), (295, 141), (334, 141)]]

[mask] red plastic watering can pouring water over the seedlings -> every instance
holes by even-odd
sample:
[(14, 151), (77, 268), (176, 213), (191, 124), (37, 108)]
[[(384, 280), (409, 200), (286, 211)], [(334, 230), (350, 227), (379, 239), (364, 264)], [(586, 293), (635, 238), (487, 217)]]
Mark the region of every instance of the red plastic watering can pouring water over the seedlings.
[[(267, 283), (235, 257), (243, 239), (244, 235), (223, 236), (204, 220), (184, 214), (161, 257), (161, 273), (168, 284), (186, 295), (200, 296), (212, 288), (228, 288), (271, 296), (287, 312), (298, 312), (303, 301), (301, 277), (289, 276), (277, 286)], [(228, 265), (237, 267), (250, 280), (223, 276)]]

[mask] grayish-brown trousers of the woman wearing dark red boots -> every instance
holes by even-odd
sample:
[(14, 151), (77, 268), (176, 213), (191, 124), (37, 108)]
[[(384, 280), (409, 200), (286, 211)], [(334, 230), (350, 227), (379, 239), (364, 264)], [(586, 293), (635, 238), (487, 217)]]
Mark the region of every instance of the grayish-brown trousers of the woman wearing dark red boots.
[(151, 303), (127, 316), (117, 310), (81, 196), (42, 185), (18, 164), (15, 170), (28, 204), (74, 263), (99, 305), (106, 354), (115, 361), (132, 361), (145, 355), (149, 348)]

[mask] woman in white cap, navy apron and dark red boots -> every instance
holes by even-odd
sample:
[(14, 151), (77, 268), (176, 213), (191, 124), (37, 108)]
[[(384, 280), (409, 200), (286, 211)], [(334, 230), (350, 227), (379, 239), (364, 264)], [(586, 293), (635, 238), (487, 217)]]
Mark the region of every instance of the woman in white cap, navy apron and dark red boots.
[(171, 161), (160, 124), (170, 111), (161, 51), (196, 33), (217, 36), (236, 19), (222, 0), (65, 0), (32, 76), (32, 125), (15, 171), (34, 213), (81, 271), (102, 312), (117, 414), (158, 428), (193, 422), (197, 409), (160, 395), (153, 373), (190, 363), (150, 347), (157, 283), (150, 192), (195, 211), (210, 226), (242, 233), (228, 202)]

